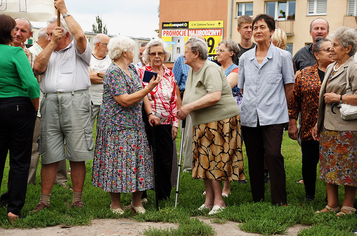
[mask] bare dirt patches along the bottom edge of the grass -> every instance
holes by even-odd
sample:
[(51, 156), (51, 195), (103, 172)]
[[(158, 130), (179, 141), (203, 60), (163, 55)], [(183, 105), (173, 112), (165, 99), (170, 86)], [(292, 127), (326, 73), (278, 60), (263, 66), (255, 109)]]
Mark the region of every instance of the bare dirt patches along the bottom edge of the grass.
[[(202, 217), (199, 220), (210, 224), (217, 236), (255, 236), (257, 234), (246, 233), (238, 227), (239, 223), (228, 221), (225, 224), (211, 223), (210, 219)], [(73, 226), (70, 228), (60, 228), (52, 226), (40, 229), (0, 229), (1, 236), (137, 236), (141, 235), (144, 229), (149, 226), (154, 228), (177, 228), (178, 225), (162, 222), (137, 222), (130, 219), (100, 219), (92, 220), (88, 226)], [(296, 236), (297, 232), (307, 226), (295, 225), (290, 228), (286, 235)]]

